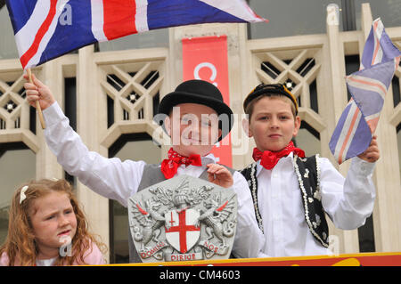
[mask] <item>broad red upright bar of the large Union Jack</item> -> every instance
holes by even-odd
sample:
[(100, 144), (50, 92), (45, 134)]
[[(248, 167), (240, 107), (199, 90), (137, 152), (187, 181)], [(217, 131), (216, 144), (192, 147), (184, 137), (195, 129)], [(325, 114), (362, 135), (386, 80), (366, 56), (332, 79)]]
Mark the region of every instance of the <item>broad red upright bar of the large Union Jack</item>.
[(108, 40), (135, 34), (135, 0), (103, 1), (103, 31)]

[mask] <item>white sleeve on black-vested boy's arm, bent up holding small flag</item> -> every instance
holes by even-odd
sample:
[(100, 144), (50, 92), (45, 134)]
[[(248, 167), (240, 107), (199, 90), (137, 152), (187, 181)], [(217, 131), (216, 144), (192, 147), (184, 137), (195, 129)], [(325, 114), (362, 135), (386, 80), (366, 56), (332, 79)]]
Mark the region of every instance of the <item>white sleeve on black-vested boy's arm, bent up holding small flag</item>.
[(322, 204), (331, 221), (342, 230), (364, 225), (372, 215), (376, 196), (372, 182), (374, 163), (352, 158), (346, 179), (327, 158), (319, 158), (319, 163)]

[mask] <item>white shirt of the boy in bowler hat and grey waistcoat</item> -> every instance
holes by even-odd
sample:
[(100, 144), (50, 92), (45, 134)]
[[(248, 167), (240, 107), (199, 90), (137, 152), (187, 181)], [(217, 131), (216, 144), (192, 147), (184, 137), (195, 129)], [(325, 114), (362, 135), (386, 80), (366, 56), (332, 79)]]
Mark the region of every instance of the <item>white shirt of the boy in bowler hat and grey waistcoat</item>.
[[(144, 161), (119, 158), (104, 158), (89, 151), (81, 138), (69, 125), (57, 102), (43, 111), (45, 118), (45, 140), (57, 161), (81, 183), (108, 199), (115, 199), (127, 207), (127, 199), (135, 194), (141, 183)], [(209, 154), (216, 162), (216, 158)], [(178, 167), (177, 175), (188, 174), (199, 177), (206, 166)], [(242, 174), (233, 174), (233, 190), (237, 194), (237, 228), (233, 244), (233, 255), (237, 257), (257, 257), (263, 244), (263, 234), (258, 228), (248, 183)]]

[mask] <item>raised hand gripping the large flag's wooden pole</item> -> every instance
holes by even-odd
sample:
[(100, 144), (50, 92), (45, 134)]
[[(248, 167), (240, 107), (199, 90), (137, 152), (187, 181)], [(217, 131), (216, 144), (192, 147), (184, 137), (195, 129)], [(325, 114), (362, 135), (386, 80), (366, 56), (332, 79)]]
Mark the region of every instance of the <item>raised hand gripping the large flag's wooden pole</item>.
[[(28, 75), (24, 74), (24, 78), (28, 80)], [(47, 109), (50, 107), (54, 100), (53, 94), (50, 91), (47, 85), (44, 85), (34, 74), (32, 74), (32, 81), (31, 83), (25, 83), (24, 88), (27, 90), (27, 101), (31, 106), (35, 108), (35, 101), (39, 101), (40, 108), (42, 110)]]

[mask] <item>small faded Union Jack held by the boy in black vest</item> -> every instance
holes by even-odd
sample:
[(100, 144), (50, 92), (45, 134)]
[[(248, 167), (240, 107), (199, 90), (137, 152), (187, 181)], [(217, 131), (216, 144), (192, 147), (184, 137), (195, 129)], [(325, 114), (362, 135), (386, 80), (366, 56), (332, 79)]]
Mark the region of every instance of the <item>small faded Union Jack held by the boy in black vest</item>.
[(339, 164), (360, 155), (369, 147), (400, 55), (380, 18), (374, 20), (364, 45), (360, 69), (346, 78), (352, 98), (329, 143)]

